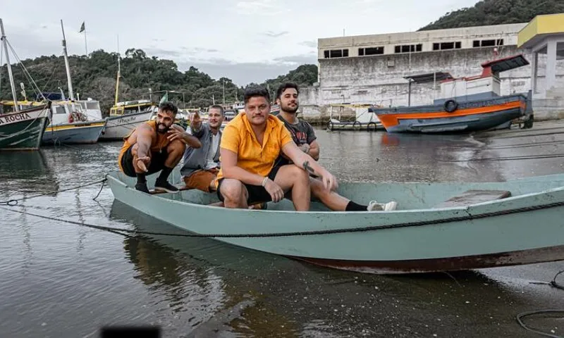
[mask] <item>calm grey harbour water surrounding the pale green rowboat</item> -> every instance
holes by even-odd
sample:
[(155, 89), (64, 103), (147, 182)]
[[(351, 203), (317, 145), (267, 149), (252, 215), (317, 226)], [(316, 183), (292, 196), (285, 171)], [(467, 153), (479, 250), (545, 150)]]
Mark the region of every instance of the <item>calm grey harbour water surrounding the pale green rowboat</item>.
[[(321, 163), (341, 180), (497, 181), (562, 170), (559, 158), (475, 161), (555, 151), (504, 148), (526, 139), (317, 133)], [(102, 179), (117, 168), (120, 146), (0, 154), (1, 199)], [(114, 201), (107, 187), (93, 201), (98, 191), (84, 187), (10, 208), (176, 231)], [(160, 325), (162, 337), (537, 337), (515, 315), (564, 308), (564, 292), (530, 283), (551, 280), (564, 263), (451, 276), (362, 275), (211, 239), (125, 237), (0, 210), (0, 337), (98, 337), (104, 325)], [(561, 320), (528, 322), (564, 332)]]

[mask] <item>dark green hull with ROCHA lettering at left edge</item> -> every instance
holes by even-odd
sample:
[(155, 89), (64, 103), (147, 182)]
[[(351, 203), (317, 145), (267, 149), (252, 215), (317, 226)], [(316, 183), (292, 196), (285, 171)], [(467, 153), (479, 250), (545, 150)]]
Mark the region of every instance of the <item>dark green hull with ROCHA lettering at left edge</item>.
[(39, 149), (49, 113), (47, 106), (37, 106), (0, 115), (0, 151)]

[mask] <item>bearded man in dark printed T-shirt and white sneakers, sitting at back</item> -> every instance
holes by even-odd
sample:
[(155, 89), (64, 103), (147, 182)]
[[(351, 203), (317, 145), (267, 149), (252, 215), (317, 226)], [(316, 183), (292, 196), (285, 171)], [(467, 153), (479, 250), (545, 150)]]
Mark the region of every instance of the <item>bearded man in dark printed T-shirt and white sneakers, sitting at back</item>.
[[(298, 85), (287, 82), (281, 84), (276, 91), (276, 104), (280, 105), (280, 113), (278, 118), (286, 125), (286, 129), (290, 131), (295, 144), (298, 145), (303, 152), (312, 156), (315, 161), (319, 161), (319, 144), (312, 125), (304, 120), (299, 120), (298, 111)], [(289, 164), (290, 160), (285, 156), (276, 159), (275, 165)], [(396, 210), (397, 203), (391, 201), (385, 204), (376, 201), (370, 201), (368, 205), (357, 204), (336, 192), (325, 189), (323, 182), (312, 177), (310, 179), (312, 196), (317, 197), (321, 203), (325, 204), (333, 211), (392, 211)]]

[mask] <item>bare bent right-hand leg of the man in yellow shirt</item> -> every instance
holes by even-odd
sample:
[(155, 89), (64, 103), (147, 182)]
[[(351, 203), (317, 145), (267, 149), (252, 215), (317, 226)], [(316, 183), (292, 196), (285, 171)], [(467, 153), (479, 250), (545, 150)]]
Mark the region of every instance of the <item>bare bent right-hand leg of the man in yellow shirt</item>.
[(292, 202), (296, 211), (309, 211), (311, 190), (309, 188), (309, 175), (296, 165), (284, 165), (276, 173), (274, 182), (284, 192), (292, 190)]

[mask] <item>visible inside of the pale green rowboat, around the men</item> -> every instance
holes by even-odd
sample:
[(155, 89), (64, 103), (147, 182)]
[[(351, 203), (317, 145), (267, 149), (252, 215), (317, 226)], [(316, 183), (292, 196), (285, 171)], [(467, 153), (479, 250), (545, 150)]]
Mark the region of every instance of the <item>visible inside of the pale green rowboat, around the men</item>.
[[(131, 189), (135, 189), (135, 177), (112, 172), (115, 177)], [(154, 196), (190, 204), (209, 206), (219, 202), (216, 192), (206, 193), (197, 189), (183, 189), (178, 194), (154, 192), (155, 175), (147, 175), (147, 187)], [(173, 170), (169, 181), (177, 187), (183, 186), (178, 168)], [(518, 199), (525, 195), (543, 194), (548, 190), (564, 189), (564, 174), (525, 177), (505, 182), (339, 182), (338, 193), (360, 204), (369, 201), (397, 201), (398, 211), (430, 208), (456, 208), (501, 199)], [(269, 202), (266, 210), (294, 211), (290, 200)], [(330, 211), (324, 204), (312, 198), (310, 211)]]

